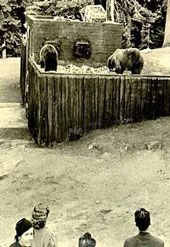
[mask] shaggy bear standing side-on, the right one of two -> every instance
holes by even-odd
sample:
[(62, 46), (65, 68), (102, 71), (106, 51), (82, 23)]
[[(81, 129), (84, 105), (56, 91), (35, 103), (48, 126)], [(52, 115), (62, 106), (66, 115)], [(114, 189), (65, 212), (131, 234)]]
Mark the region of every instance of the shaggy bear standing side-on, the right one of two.
[(125, 70), (130, 70), (132, 74), (140, 74), (143, 65), (143, 57), (137, 48), (116, 49), (107, 60), (109, 70), (118, 74), (123, 74)]

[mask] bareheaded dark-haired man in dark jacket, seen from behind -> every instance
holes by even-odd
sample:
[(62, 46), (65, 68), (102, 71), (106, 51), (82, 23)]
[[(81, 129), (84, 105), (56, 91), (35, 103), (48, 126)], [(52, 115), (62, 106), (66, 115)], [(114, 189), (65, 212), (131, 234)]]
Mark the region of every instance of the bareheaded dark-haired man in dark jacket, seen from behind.
[(126, 239), (124, 247), (164, 247), (163, 240), (154, 237), (148, 232), (148, 228), (151, 225), (150, 212), (144, 208), (140, 208), (135, 212), (134, 216), (139, 233), (136, 236)]

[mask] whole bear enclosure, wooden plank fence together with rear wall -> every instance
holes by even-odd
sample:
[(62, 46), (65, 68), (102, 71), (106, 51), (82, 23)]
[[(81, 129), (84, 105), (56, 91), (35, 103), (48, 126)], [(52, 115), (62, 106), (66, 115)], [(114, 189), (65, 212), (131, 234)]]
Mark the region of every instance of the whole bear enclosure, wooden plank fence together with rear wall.
[[(22, 47), (20, 83), (23, 102), (26, 84), (29, 86), (28, 126), (40, 146), (73, 140), (115, 123), (170, 115), (169, 77), (62, 74), (43, 72), (38, 65), (39, 51), (46, 41), (59, 49), (59, 63), (106, 64), (108, 56), (120, 48), (121, 33), (122, 27), (117, 23), (28, 17), (28, 42)], [(75, 58), (77, 40), (90, 44), (90, 57)]]

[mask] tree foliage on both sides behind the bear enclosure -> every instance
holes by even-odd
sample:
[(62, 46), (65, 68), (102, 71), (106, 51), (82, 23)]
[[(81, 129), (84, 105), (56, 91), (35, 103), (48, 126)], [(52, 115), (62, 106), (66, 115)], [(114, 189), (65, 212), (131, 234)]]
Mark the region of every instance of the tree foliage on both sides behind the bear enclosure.
[[(33, 4), (34, 2), (34, 4)], [(31, 14), (58, 15), (81, 20), (81, 9), (94, 0), (1, 0), (0, 45), (5, 39), (8, 56), (20, 55), (27, 10)], [(124, 26), (122, 47), (161, 47), (167, 0), (114, 0), (114, 20)]]

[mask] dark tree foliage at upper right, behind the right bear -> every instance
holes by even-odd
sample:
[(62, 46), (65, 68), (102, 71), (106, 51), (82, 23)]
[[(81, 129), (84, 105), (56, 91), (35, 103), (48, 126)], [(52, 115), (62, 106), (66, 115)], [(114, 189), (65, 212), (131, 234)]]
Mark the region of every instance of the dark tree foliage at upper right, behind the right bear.
[(114, 18), (124, 26), (123, 47), (161, 47), (166, 17), (165, 0), (115, 0)]

